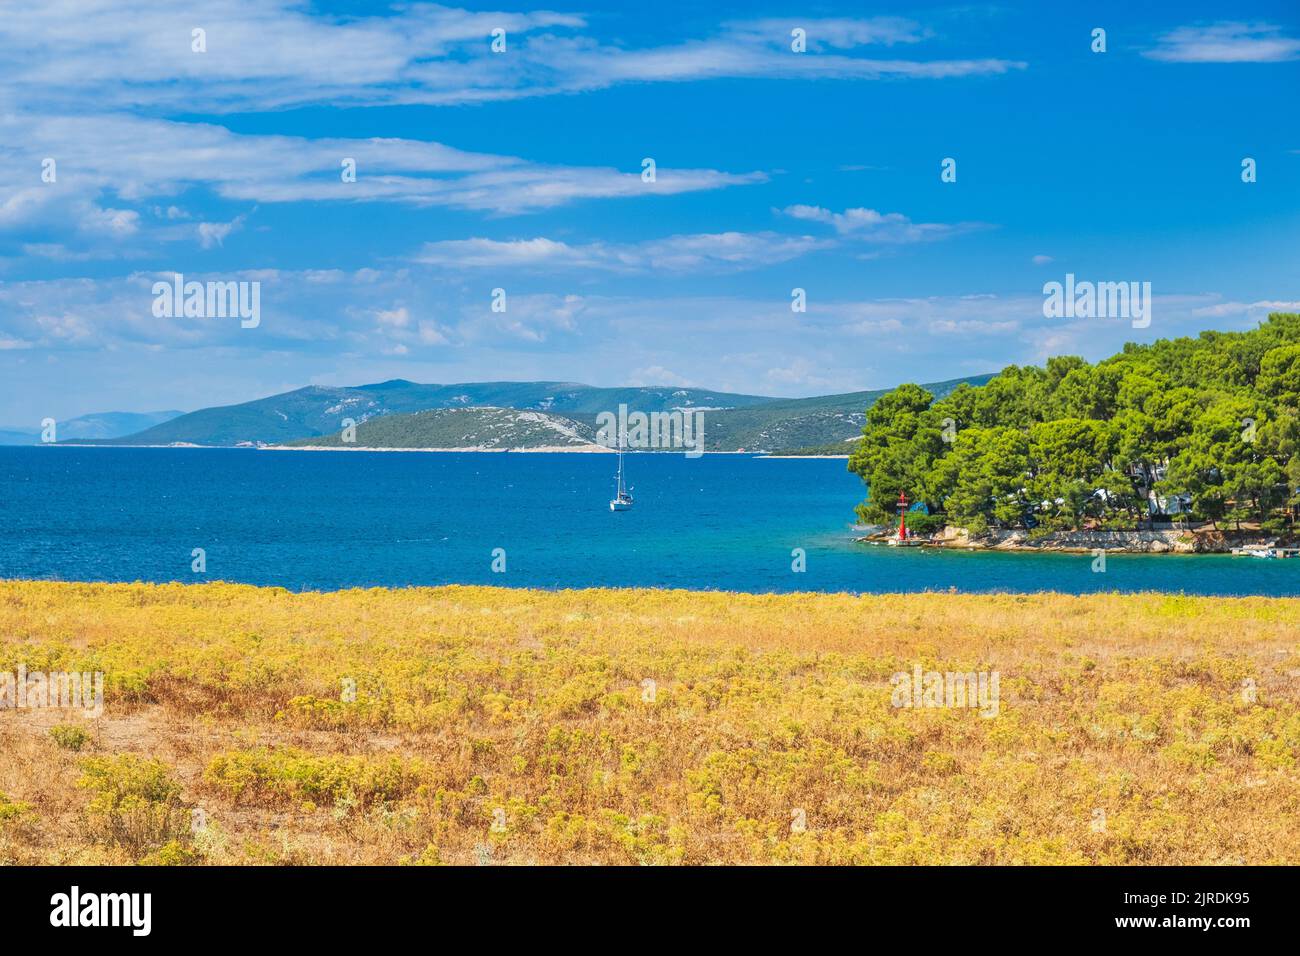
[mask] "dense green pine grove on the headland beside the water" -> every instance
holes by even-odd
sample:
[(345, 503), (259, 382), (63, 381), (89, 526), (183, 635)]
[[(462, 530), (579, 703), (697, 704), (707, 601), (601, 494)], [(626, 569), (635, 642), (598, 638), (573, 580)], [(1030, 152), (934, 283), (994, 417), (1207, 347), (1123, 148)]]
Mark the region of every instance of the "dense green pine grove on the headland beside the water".
[(1124, 538), (1080, 532), (1178, 523), (1191, 537), (1164, 550), (1223, 550), (1295, 538), (1297, 451), (1300, 315), (1279, 312), (1097, 364), (1011, 365), (942, 397), (901, 385), (866, 411), (849, 470), (868, 486), (862, 523), (896, 528), (905, 496), (909, 532), (935, 544), (1087, 549)]

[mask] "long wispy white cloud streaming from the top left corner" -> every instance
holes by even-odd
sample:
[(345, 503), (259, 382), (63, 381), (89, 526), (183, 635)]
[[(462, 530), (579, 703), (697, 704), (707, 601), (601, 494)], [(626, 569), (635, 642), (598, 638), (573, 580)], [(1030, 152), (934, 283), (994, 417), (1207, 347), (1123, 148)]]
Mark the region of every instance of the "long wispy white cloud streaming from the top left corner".
[[(807, 49), (790, 48), (792, 29)], [(204, 31), (195, 52), (192, 31)], [(491, 52), (491, 31), (506, 49)], [(580, 33), (586, 31), (586, 33)], [(0, 91), (14, 101), (231, 112), (313, 103), (459, 104), (707, 78), (950, 78), (1023, 69), (988, 59), (880, 59), (863, 48), (916, 46), (919, 25), (893, 17), (736, 21), (676, 44), (602, 42), (586, 17), (551, 10), (472, 12), (430, 4), (386, 16), (333, 17), (296, 0), (43, 0), (0, 18)]]

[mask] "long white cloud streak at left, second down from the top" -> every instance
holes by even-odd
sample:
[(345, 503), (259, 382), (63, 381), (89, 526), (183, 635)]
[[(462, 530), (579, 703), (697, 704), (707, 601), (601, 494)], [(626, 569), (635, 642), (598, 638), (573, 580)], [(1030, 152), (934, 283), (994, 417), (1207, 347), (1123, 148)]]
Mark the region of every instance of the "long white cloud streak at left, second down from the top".
[[(582, 199), (676, 195), (767, 178), (760, 172), (659, 166), (655, 181), (644, 182), (640, 168), (537, 164), (412, 139), (242, 135), (213, 124), (131, 116), (0, 114), (0, 140), (22, 143), (17, 164), (26, 163), (30, 170), (26, 177), (0, 181), (0, 229), (62, 221), (90, 237), (112, 239), (136, 233), (143, 222), (138, 211), (120, 204), (136, 203), (148, 211), (156, 199), (173, 199), (198, 186), (251, 203), (381, 202), (507, 215)], [(140, 143), (165, 148), (144, 151)], [(39, 179), (44, 157), (57, 164), (52, 183)], [(342, 181), (344, 159), (356, 163), (355, 182)], [(156, 208), (155, 219), (186, 215), (174, 206)], [(188, 235), (209, 247), (234, 228), (209, 222), (166, 235)]]

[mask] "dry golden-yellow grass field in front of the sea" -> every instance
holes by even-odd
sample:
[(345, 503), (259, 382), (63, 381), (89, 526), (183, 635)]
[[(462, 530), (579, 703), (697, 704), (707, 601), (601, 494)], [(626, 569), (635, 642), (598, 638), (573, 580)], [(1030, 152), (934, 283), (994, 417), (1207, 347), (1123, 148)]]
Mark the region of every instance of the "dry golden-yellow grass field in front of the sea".
[(0, 709), (5, 864), (1300, 862), (1300, 600), (0, 583), (20, 666), (104, 710)]

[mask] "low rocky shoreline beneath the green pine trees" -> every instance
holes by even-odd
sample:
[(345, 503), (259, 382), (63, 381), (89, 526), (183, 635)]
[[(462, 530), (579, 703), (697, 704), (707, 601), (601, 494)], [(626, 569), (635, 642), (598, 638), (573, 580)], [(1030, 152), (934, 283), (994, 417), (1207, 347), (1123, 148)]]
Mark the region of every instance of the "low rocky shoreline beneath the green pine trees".
[[(866, 529), (864, 529), (866, 531)], [(889, 528), (871, 529), (857, 538), (870, 544), (887, 544), (893, 537)], [(1030, 531), (988, 531), (974, 536), (966, 528), (946, 527), (935, 535), (911, 538), (915, 548), (956, 548), (991, 551), (1123, 551), (1130, 554), (1227, 554), (1234, 548), (1264, 545), (1294, 546), (1277, 535), (1254, 531), (1214, 528), (1167, 531), (1058, 531), (1035, 535)]]

